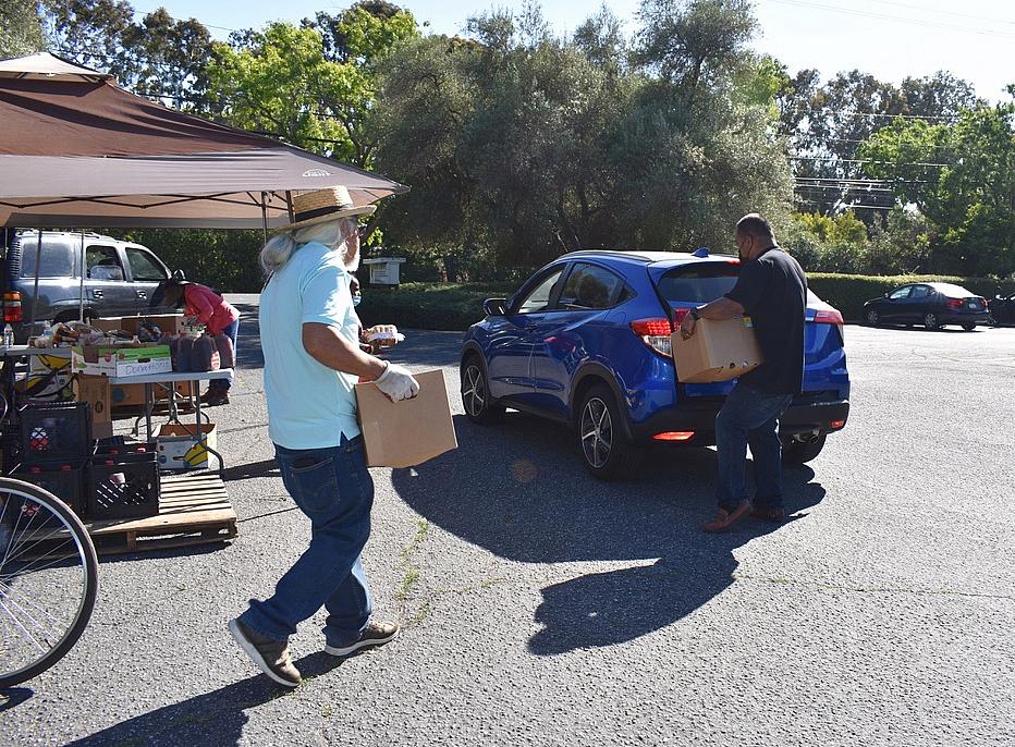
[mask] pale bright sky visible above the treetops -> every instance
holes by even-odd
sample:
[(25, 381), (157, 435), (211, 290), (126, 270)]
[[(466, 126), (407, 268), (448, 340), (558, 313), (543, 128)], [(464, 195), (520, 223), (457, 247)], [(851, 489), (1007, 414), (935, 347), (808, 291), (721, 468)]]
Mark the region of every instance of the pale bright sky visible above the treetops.
[[(318, 10), (334, 13), (351, 3), (289, 0), (268, 2), (198, 2), (135, 0), (139, 12), (164, 7), (174, 17), (194, 16), (221, 37), (228, 28), (260, 27), (267, 22), (297, 22)], [(517, 10), (522, 0), (448, 3), (439, 0), (396, 2), (435, 33), (455, 34), (465, 20), (491, 8)], [(627, 28), (636, 28), (638, 0), (608, 0)], [(573, 30), (599, 3), (555, 0), (543, 3), (543, 15), (560, 33)], [(1003, 87), (1015, 83), (1015, 3), (1010, 0), (756, 0), (761, 35), (755, 47), (773, 54), (791, 72), (817, 68), (828, 78), (857, 68), (898, 83), (906, 75), (949, 70), (976, 86), (990, 100), (1006, 98)]]

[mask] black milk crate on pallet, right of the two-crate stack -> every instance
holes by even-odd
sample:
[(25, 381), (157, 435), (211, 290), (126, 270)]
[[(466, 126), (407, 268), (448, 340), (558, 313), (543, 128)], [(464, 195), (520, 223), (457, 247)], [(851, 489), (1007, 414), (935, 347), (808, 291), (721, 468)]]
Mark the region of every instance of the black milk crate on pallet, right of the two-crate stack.
[(159, 513), (157, 454), (96, 455), (88, 469), (86, 511), (91, 521), (140, 518)]

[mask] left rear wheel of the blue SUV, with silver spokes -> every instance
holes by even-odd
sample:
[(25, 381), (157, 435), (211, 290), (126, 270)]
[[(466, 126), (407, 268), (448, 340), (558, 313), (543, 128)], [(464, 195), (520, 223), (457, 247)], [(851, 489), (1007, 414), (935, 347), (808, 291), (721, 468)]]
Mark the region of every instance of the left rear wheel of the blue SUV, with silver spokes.
[(640, 451), (624, 437), (623, 417), (613, 392), (606, 384), (596, 384), (582, 397), (575, 416), (575, 433), (582, 461), (597, 479), (629, 478), (640, 463)]

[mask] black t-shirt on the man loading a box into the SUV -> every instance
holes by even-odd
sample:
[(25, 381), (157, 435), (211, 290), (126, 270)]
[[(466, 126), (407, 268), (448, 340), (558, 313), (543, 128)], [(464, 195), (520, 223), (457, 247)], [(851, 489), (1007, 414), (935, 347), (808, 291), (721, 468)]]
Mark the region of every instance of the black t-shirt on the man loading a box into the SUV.
[(754, 322), (765, 363), (741, 377), (768, 394), (798, 394), (804, 384), (807, 277), (793, 257), (772, 246), (741, 267), (727, 298)]

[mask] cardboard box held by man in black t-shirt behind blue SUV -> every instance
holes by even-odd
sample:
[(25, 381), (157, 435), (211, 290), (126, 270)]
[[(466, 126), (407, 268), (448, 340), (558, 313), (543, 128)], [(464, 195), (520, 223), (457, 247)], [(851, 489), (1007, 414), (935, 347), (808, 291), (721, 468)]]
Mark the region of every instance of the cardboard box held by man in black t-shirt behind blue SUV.
[(680, 330), (670, 338), (681, 383), (729, 381), (761, 365), (761, 348), (750, 317), (700, 319), (689, 340)]

